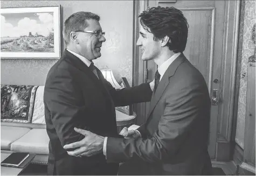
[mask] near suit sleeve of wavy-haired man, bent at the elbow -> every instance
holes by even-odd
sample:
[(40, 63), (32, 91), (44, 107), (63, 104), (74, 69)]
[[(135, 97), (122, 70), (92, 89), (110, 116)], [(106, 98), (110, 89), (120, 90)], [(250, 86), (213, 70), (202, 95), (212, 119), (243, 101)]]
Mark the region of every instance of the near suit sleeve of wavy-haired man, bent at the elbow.
[[(195, 121), (198, 121), (197, 117), (200, 116), (202, 107), (204, 104), (209, 104), (204, 98), (205, 93), (201, 90), (196, 83), (171, 89), (165, 100), (166, 106), (158, 123), (158, 130), (153, 137), (146, 139), (109, 137), (107, 161), (119, 163), (141, 159), (153, 163), (174, 157), (179, 147), (188, 139)], [(206, 107), (210, 108), (210, 106)]]

